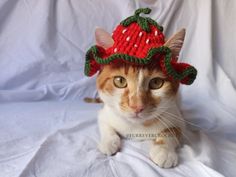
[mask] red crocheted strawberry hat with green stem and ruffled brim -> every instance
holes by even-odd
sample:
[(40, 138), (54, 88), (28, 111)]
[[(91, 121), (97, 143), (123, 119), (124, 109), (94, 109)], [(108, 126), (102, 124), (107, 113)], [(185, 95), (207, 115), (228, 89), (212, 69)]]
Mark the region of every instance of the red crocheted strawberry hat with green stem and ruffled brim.
[(164, 46), (163, 27), (149, 17), (140, 16), (150, 12), (149, 8), (141, 8), (123, 20), (112, 34), (114, 44), (110, 48), (92, 46), (86, 53), (85, 75), (92, 76), (102, 65), (110, 63), (144, 66), (156, 62), (169, 79), (192, 84), (197, 70), (187, 63), (178, 63), (171, 49)]

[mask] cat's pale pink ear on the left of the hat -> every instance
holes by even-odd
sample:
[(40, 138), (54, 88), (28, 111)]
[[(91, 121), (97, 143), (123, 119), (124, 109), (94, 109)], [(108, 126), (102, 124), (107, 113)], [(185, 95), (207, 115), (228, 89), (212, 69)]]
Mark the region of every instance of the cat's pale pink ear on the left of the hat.
[(111, 47), (114, 44), (114, 40), (111, 35), (102, 28), (95, 29), (96, 44), (105, 49)]

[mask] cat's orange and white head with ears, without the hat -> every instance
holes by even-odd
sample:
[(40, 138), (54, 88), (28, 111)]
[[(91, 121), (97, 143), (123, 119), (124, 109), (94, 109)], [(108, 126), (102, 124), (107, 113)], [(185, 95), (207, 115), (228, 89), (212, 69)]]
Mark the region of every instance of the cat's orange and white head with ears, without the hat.
[[(104, 48), (113, 45), (112, 37), (98, 28), (96, 43)], [(185, 30), (173, 35), (165, 46), (177, 57), (183, 45)], [(173, 106), (179, 87), (169, 80), (158, 65), (131, 66), (104, 65), (97, 77), (97, 89), (104, 104), (119, 116), (131, 122), (144, 122), (157, 118)]]

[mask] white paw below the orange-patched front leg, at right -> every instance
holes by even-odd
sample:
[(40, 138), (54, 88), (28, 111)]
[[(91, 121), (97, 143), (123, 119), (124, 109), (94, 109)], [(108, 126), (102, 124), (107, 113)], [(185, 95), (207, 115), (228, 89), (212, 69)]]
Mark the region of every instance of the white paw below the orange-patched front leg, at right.
[(155, 164), (162, 168), (171, 168), (178, 164), (177, 153), (165, 147), (151, 148), (150, 157)]

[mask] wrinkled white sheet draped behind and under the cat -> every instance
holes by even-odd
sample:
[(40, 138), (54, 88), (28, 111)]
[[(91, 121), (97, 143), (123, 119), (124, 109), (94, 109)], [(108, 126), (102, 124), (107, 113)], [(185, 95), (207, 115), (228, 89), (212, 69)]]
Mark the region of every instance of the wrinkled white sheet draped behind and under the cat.
[[(161, 169), (145, 142), (98, 152), (95, 94), (83, 75), (96, 26), (112, 29), (139, 7), (170, 36), (185, 27), (182, 61), (198, 77), (182, 86), (180, 107), (195, 130), (186, 134), (180, 164)], [(235, 1), (15, 0), (0, 2), (0, 177), (235, 176)], [(201, 131), (198, 131), (198, 130)]]

